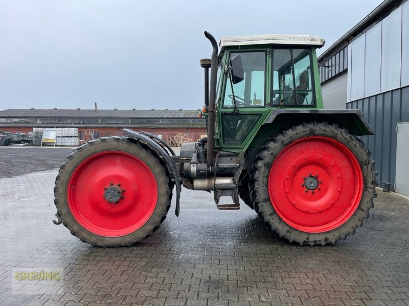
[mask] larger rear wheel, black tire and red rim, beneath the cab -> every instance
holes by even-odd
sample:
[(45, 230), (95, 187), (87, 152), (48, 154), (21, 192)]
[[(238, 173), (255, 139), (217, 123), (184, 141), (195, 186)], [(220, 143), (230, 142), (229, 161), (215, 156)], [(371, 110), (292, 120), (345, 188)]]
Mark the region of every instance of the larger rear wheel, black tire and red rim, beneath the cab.
[(304, 123), (263, 144), (251, 172), (251, 197), (280, 237), (335, 244), (369, 216), (376, 174), (355, 136), (336, 125)]

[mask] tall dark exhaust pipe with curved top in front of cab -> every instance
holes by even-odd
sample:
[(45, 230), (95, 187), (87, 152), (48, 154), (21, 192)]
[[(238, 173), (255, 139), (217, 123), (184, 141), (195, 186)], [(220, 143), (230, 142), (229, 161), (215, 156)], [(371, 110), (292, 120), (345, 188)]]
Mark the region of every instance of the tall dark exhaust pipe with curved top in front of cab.
[(209, 116), (208, 116), (208, 167), (213, 167), (213, 150), (214, 150), (214, 131), (215, 131), (215, 104), (216, 104), (216, 79), (217, 79), (217, 65), (218, 65), (218, 47), (216, 39), (212, 34), (205, 31), (205, 36), (210, 40), (213, 46), (211, 68), (210, 68), (210, 93), (209, 93)]

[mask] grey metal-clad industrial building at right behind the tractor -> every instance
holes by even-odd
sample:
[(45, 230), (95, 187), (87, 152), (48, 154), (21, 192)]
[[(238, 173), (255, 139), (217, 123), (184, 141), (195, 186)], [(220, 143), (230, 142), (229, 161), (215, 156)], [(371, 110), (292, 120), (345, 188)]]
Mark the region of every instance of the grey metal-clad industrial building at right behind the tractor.
[(409, 195), (409, 1), (383, 1), (318, 61), (324, 107), (363, 112), (378, 182)]

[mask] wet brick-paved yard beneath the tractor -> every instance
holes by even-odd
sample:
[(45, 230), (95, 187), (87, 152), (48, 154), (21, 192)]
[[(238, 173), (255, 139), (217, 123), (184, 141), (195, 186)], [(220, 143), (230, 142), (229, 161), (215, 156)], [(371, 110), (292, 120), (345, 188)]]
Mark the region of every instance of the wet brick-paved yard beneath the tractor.
[[(38, 152), (26, 150), (27, 157)], [(58, 150), (44, 150), (42, 159), (63, 161), (66, 151)], [(404, 197), (378, 191), (354, 236), (311, 248), (281, 240), (245, 205), (218, 211), (211, 194), (185, 189), (179, 218), (172, 207), (143, 243), (103, 249), (51, 222), (56, 174), (0, 176), (0, 305), (409, 304)], [(16, 284), (17, 273), (30, 269), (62, 277), (52, 288), (43, 285), (51, 281)]]

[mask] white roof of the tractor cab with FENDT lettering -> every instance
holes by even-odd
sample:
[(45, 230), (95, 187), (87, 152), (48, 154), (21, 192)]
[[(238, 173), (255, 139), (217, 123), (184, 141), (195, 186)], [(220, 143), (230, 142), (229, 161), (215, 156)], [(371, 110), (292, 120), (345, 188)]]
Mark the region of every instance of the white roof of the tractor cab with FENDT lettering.
[(220, 39), (220, 47), (259, 45), (259, 44), (290, 44), (290, 45), (315, 45), (321, 48), (325, 40), (319, 36), (310, 35), (251, 35), (251, 36), (228, 36)]

